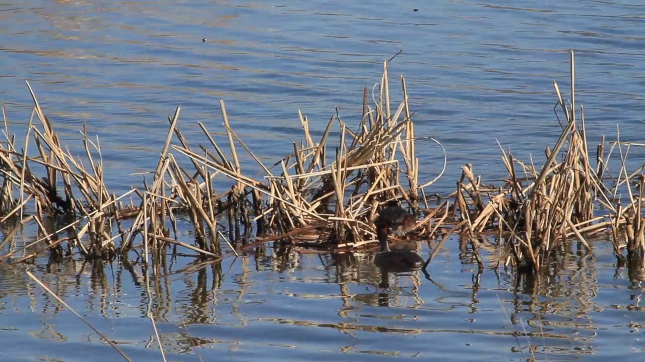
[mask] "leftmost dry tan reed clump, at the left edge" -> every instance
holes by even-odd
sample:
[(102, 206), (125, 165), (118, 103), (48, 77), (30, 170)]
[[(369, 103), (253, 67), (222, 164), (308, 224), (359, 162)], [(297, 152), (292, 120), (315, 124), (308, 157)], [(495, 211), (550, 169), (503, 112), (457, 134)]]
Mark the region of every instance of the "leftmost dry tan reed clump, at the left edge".
[[(45, 242), (46, 246), (27, 254), (28, 259), (39, 252), (51, 249), (56, 256), (63, 255), (66, 242), (67, 254), (73, 248), (88, 259), (113, 258), (115, 256), (112, 225), (119, 213), (126, 214), (117, 201), (128, 193), (116, 197), (103, 182), (103, 157), (101, 146), (88, 138), (86, 129), (83, 135), (84, 160), (72, 155), (68, 148), (61, 146), (52, 123), (43, 113), (32, 88), (27, 84), (34, 99), (34, 110), (25, 136), (25, 147), (17, 149), (15, 135), (10, 133), (5, 108), (6, 143), (0, 145), (0, 174), (3, 176), (2, 217), (0, 222), (14, 219), (15, 227), (0, 242), (3, 247), (21, 225), (32, 220), (38, 225), (40, 237), (28, 247)], [(34, 115), (39, 121), (34, 122)], [(10, 136), (11, 135), (11, 136)], [(28, 156), (28, 148), (33, 142), (37, 157)], [(33, 146), (32, 146), (33, 147)], [(35, 175), (42, 170), (45, 176)], [(15, 196), (17, 193), (17, 197)], [(32, 205), (33, 211), (27, 214), (26, 206)], [(68, 222), (65, 227), (54, 230), (50, 220)], [(66, 236), (61, 236), (66, 234)], [(84, 240), (84, 242), (81, 242)], [(14, 255), (9, 252), (0, 260)]]

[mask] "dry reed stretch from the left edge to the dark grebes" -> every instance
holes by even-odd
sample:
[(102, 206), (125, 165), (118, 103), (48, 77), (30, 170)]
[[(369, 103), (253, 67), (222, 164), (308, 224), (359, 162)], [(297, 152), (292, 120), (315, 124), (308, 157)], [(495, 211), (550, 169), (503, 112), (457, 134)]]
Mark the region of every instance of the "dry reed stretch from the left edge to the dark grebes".
[[(142, 187), (133, 187), (120, 196), (110, 193), (103, 182), (98, 138), (90, 140), (83, 129), (86, 155), (83, 160), (74, 157), (61, 146), (32, 92), (34, 114), (41, 126), (30, 122), (25, 145), (35, 142), (39, 157), (26, 156), (27, 146), (17, 151), (15, 136), (8, 137), (6, 147), (0, 148), (3, 221), (21, 215), (14, 231), (8, 233), (0, 246), (21, 225), (35, 220), (43, 236), (28, 246), (44, 241), (46, 247), (36, 249), (21, 260), (46, 249), (57, 250), (56, 255), (60, 257), (61, 245), (66, 245), (67, 254), (78, 249), (86, 258), (104, 260), (142, 249), (143, 253), (137, 254), (143, 254), (144, 260), (150, 256), (157, 262), (164, 255), (164, 247), (171, 244), (197, 252), (201, 258), (220, 260), (226, 256), (221, 250), (222, 242), (230, 245), (228, 254), (237, 254), (240, 248), (234, 244), (248, 242), (253, 225), (255, 237), (263, 238), (249, 245), (288, 240), (297, 245), (334, 250), (368, 247), (365, 245), (375, 239), (372, 221), (379, 205), (402, 200), (415, 214), (421, 214), (422, 210), (428, 213), (424, 188), (439, 178), (419, 184), (417, 138), (405, 81), (401, 77), (403, 100), (393, 108), (387, 64), (384, 62), (377, 95), (372, 96), (373, 107), (368, 102), (368, 90), (364, 91), (363, 115), (357, 129), (351, 130), (336, 110), (323, 136), (314, 140), (309, 120), (299, 112), (303, 141), (293, 142), (293, 153), (270, 166), (263, 164), (235, 133), (223, 100), (225, 145), (218, 144), (199, 122), (208, 146), (192, 148), (177, 126), (181, 111), (178, 107), (168, 119), (168, 135), (157, 166), (151, 172), (151, 182), (144, 179)], [(339, 138), (332, 140), (334, 126), (340, 132)], [(10, 134), (6, 114), (5, 131), (6, 135)], [(174, 143), (174, 139), (178, 142)], [(261, 177), (244, 173), (241, 149), (263, 170)], [(177, 160), (179, 157), (181, 160)], [(32, 173), (36, 166), (44, 167), (46, 177), (38, 178)], [(213, 181), (222, 176), (232, 180), (232, 187), (217, 192)], [(124, 205), (119, 201), (126, 196), (131, 201)], [(137, 197), (139, 201), (133, 201)], [(425, 207), (419, 206), (420, 200)], [(27, 205), (33, 206), (34, 211), (27, 213)], [(180, 213), (188, 216), (194, 228), (194, 243), (181, 242), (177, 237), (176, 220)], [(23, 214), (28, 215), (23, 217)], [(419, 223), (416, 234), (428, 236), (437, 230), (438, 225), (431, 229), (428, 224), (437, 213), (430, 211), (430, 214)], [(67, 224), (54, 230), (46, 226), (47, 218), (58, 221), (64, 218)], [(219, 230), (218, 223), (228, 228), (228, 238)], [(66, 233), (66, 237), (61, 238), (61, 233)], [(143, 242), (136, 244), (140, 237)], [(118, 245), (117, 240), (120, 240)], [(0, 258), (14, 255), (15, 252), (8, 252)]]

